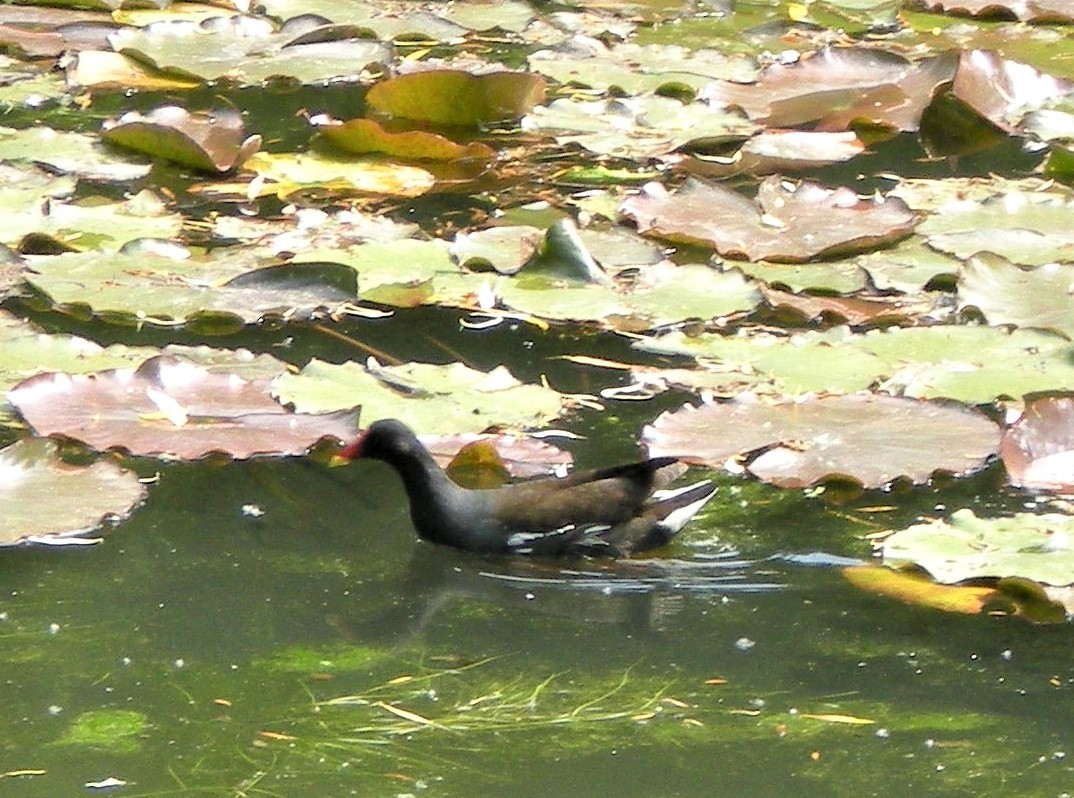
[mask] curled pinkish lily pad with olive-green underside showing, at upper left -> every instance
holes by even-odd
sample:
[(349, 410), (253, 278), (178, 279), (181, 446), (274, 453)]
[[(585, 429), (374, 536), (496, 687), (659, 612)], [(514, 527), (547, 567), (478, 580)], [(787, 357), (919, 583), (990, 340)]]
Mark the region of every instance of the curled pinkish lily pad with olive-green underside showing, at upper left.
[(242, 114), (233, 108), (192, 114), (163, 105), (106, 121), (105, 141), (203, 172), (229, 172), (261, 148), (260, 135), (246, 135)]

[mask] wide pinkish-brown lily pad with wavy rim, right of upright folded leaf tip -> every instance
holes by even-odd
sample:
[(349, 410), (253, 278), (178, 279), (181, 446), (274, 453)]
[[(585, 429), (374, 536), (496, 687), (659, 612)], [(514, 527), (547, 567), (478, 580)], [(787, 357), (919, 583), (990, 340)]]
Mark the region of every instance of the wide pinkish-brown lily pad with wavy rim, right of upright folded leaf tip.
[(768, 177), (749, 200), (690, 179), (674, 193), (649, 183), (620, 208), (647, 235), (714, 247), (726, 258), (801, 263), (894, 244), (915, 214), (897, 198), (860, 199), (847, 188)]

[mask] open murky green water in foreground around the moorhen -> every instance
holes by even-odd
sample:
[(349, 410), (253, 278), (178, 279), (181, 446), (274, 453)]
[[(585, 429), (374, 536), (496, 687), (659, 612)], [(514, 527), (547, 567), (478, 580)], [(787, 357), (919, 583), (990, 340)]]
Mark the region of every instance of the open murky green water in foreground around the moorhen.
[[(581, 419), (581, 459), (618, 453), (632, 412)], [(671, 561), (599, 564), (419, 543), (404, 508), (377, 463), (172, 465), (104, 543), (5, 552), (0, 793), (108, 777), (122, 796), (295, 798), (1074, 784), (1069, 626), (908, 608), (766, 558), (861, 554), (851, 510), (723, 479)]]

